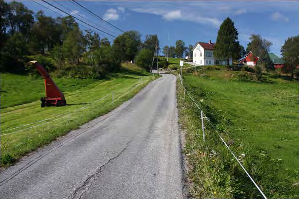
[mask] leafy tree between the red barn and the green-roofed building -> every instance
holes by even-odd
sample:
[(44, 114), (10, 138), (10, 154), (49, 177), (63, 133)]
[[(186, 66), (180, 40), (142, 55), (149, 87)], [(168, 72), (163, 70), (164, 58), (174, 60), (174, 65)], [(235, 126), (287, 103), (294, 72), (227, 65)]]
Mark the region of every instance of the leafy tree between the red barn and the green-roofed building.
[[(257, 80), (262, 78), (262, 68), (261, 66), (271, 66), (271, 61), (269, 58), (269, 49), (272, 45), (271, 42), (266, 39), (262, 39), (260, 35), (252, 34), (249, 38), (251, 41), (247, 44), (246, 51), (251, 51), (253, 56), (256, 58), (255, 75)], [(259, 59), (258, 59), (258, 58)]]

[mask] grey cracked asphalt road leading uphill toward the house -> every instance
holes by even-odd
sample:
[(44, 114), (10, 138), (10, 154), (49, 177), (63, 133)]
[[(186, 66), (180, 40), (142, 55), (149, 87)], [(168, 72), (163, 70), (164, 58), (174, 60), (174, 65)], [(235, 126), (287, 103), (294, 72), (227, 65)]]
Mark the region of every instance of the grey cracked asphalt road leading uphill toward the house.
[(1, 198), (183, 198), (176, 77), (1, 172)]

